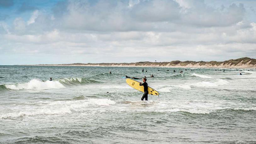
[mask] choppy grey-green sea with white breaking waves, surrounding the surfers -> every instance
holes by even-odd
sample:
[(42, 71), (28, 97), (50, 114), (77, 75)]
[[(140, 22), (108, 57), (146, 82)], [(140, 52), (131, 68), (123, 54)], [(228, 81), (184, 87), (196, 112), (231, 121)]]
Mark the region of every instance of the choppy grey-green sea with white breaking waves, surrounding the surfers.
[(144, 70), (0, 66), (0, 143), (256, 143), (256, 69)]

